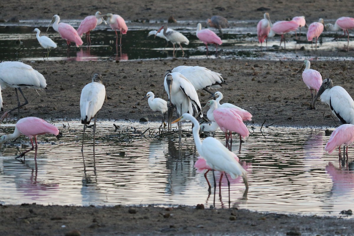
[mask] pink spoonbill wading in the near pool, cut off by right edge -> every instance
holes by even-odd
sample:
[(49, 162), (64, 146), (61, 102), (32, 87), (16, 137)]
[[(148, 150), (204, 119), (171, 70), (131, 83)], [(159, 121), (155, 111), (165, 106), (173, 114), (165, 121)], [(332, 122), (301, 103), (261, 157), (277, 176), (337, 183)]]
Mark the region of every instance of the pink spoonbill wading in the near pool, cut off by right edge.
[[(337, 127), (333, 133), (331, 134), (328, 143), (325, 146), (325, 150), (331, 154), (333, 150), (339, 147), (339, 161), (342, 160), (341, 154), (341, 146), (347, 145), (346, 155), (347, 155), (347, 163), (348, 163), (348, 145), (351, 145), (354, 142), (354, 125), (352, 124), (343, 124)], [(344, 159), (346, 158), (343, 155)]]

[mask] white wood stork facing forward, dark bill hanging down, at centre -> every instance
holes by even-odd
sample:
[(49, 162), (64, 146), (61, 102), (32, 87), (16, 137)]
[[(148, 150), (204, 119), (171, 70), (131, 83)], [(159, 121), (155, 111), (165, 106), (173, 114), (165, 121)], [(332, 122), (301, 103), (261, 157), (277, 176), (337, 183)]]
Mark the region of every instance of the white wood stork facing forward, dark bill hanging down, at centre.
[[(181, 73), (172, 72), (167, 70), (165, 73), (164, 87), (169, 96), (170, 106), (169, 106), (169, 131), (170, 131), (170, 122), (172, 121), (172, 104), (176, 106), (178, 116), (181, 116), (184, 113), (193, 114), (193, 107), (195, 110), (200, 113), (201, 105), (199, 102), (198, 94), (189, 80), (184, 77)], [(200, 117), (203, 117), (203, 114), (200, 113)], [(181, 141), (182, 129), (181, 123), (178, 123), (179, 128), (179, 141)]]

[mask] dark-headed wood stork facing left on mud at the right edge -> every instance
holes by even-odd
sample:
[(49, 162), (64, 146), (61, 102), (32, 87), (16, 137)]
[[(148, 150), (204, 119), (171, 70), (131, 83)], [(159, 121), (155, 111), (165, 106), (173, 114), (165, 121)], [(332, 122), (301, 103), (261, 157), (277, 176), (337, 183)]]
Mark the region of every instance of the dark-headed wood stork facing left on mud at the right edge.
[(354, 125), (354, 101), (348, 92), (341, 86), (334, 86), (331, 79), (325, 79), (316, 94), (312, 108), (315, 108), (316, 100), (321, 96), (321, 102), (326, 103), (342, 124)]

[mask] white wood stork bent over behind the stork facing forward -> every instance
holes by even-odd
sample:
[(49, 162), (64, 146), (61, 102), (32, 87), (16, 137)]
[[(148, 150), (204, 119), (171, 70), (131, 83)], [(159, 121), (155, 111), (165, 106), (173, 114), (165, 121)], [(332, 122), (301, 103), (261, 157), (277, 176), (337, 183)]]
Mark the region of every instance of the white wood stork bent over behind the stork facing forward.
[(186, 77), (194, 86), (195, 90), (204, 90), (212, 95), (210, 88), (221, 88), (227, 85), (220, 73), (211, 71), (205, 67), (180, 65), (172, 69), (172, 72), (179, 72)]

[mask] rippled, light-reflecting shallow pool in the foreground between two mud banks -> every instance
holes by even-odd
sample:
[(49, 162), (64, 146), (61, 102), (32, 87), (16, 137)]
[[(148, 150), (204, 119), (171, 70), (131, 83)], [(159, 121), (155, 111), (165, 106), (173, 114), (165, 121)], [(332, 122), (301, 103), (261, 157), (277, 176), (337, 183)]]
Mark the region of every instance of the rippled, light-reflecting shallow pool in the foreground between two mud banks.
[[(113, 123), (120, 126), (115, 130)], [(58, 205), (188, 205), (213, 204), (204, 175), (193, 165), (198, 152), (192, 137), (184, 137), (179, 148), (172, 140), (153, 138), (159, 123), (99, 122), (95, 157), (92, 129), (87, 129), (81, 155), (82, 125), (79, 121), (55, 122), (63, 133), (39, 137), (25, 161), (15, 160), (30, 145), (21, 137), (8, 142), (0, 156), (0, 203)], [(66, 127), (63, 127), (65, 125)], [(14, 124), (1, 124), (1, 134)], [(184, 129), (190, 129), (185, 123)], [(136, 128), (136, 130), (134, 129)], [(147, 128), (150, 128), (144, 132)], [(249, 128), (251, 128), (249, 126)], [(328, 155), (322, 129), (250, 129), (251, 135), (233, 151), (248, 172), (249, 191), (244, 197), (242, 179), (231, 180), (231, 205), (255, 211), (338, 215), (354, 208), (354, 170), (339, 167), (337, 151)], [(150, 133), (149, 133), (150, 132)], [(153, 133), (154, 132), (154, 133)], [(216, 132), (224, 142), (224, 134)], [(349, 148), (349, 156), (353, 156)], [(216, 174), (217, 179), (219, 174)], [(212, 174), (208, 174), (212, 182)], [(216, 193), (216, 207), (228, 207), (227, 181), (223, 178), (222, 199)]]

